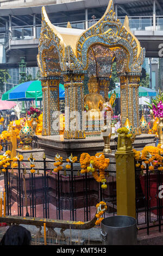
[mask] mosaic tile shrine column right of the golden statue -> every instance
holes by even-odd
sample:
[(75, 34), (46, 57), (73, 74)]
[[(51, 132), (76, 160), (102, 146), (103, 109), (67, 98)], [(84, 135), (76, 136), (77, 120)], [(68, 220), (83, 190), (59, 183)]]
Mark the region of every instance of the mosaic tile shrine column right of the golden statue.
[(122, 124), (128, 117), (135, 127), (137, 135), (141, 134), (139, 117), (139, 76), (121, 76), (121, 116)]

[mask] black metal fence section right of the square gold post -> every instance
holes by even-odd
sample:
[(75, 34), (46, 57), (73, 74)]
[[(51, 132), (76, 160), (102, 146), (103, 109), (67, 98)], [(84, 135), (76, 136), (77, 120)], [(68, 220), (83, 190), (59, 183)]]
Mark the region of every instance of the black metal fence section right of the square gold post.
[(161, 231), (163, 224), (163, 172), (157, 167), (153, 171), (135, 169), (136, 183), (136, 220), (139, 230), (146, 229), (147, 234), (152, 228)]

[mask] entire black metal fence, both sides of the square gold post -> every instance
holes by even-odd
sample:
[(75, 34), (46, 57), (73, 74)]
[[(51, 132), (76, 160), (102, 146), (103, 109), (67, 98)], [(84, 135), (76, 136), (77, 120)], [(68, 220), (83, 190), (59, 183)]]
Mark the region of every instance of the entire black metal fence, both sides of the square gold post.
[[(11, 149), (7, 141), (2, 146), (4, 151)], [(67, 162), (63, 161), (63, 169), (58, 173), (53, 172), (53, 160), (42, 158), (34, 163), (35, 173), (30, 172), (28, 160), (18, 161), (16, 168), (11, 164), (4, 173), (7, 215), (26, 216), (28, 211), (31, 217), (89, 221), (99, 201), (106, 202), (106, 214), (116, 215), (116, 170), (105, 170), (108, 187), (103, 190), (90, 173), (80, 173), (79, 162), (66, 169)], [(143, 173), (140, 167), (135, 168), (135, 190), (137, 228), (147, 234), (151, 229), (161, 231), (163, 171), (158, 167), (151, 171), (148, 164)]]

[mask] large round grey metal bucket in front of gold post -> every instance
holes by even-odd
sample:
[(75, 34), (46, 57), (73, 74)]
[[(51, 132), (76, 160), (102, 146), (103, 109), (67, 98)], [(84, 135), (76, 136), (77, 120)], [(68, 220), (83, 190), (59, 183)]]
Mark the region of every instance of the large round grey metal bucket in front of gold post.
[(137, 245), (136, 220), (129, 216), (112, 216), (101, 222), (103, 245)]

